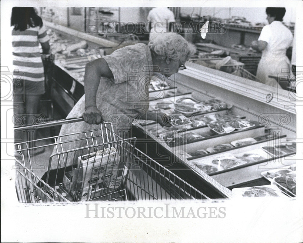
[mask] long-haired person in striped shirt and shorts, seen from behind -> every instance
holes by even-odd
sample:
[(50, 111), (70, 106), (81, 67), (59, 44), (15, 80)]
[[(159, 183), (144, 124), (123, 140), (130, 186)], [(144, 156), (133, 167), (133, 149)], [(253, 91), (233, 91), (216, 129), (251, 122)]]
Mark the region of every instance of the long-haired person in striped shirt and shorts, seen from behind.
[[(39, 43), (43, 53), (48, 54), (49, 37), (42, 18), (36, 14), (33, 7), (13, 7), (11, 26), (14, 102), (18, 105), (15, 113), (23, 116), (25, 124), (33, 124), (41, 96), (45, 92)], [(24, 78), (20, 79), (20, 76)]]

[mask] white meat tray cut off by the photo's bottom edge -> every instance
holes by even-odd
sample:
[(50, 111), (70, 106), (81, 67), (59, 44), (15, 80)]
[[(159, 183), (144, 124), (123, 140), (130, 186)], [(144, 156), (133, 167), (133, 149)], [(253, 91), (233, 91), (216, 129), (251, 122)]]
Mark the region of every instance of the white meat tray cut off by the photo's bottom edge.
[(254, 187), (233, 188), (231, 190), (236, 196), (242, 197), (287, 197), (275, 185), (263, 185)]

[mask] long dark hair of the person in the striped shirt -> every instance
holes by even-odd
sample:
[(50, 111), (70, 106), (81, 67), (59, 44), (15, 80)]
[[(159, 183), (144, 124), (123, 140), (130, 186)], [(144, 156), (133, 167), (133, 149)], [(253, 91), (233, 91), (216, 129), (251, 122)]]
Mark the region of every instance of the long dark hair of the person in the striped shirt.
[(11, 26), (14, 30), (24, 31), (29, 27), (42, 27), (40, 18), (33, 7), (13, 7), (11, 16)]

